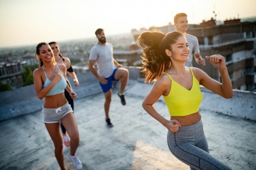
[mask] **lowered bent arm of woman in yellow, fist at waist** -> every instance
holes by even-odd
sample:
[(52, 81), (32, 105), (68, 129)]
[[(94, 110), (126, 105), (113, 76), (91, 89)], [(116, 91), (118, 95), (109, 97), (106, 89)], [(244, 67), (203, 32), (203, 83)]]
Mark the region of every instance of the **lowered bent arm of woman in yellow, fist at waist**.
[(169, 131), (177, 132), (179, 130), (179, 127), (181, 126), (180, 123), (177, 120), (166, 120), (157, 112), (157, 110), (155, 110), (153, 106), (153, 104), (160, 98), (160, 96), (162, 96), (162, 94), (164, 94), (168, 90), (168, 88), (170, 90), (170, 83), (166, 82), (166, 77), (162, 75), (154, 83), (152, 89), (149, 91), (146, 98), (144, 99), (142, 107), (144, 110), (147, 111), (147, 113), (149, 113), (150, 116), (159, 121)]

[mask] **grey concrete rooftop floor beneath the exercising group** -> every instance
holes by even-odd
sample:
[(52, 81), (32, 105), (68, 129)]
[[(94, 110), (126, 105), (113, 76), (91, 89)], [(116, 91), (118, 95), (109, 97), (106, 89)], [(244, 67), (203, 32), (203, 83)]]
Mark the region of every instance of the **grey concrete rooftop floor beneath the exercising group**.
[[(138, 88), (139, 87), (139, 88)], [(78, 87), (79, 88), (79, 87)], [(166, 142), (167, 129), (141, 107), (151, 85), (130, 82), (123, 106), (113, 89), (110, 118), (104, 120), (104, 95), (75, 99), (80, 145), (77, 154), (84, 170), (189, 170), (174, 157)], [(143, 89), (143, 90), (141, 90)], [(164, 101), (155, 108), (170, 118)], [(200, 110), (210, 153), (233, 170), (256, 169), (256, 122)], [(41, 110), (0, 122), (1, 170), (60, 169)], [(74, 169), (64, 146), (67, 169)]]

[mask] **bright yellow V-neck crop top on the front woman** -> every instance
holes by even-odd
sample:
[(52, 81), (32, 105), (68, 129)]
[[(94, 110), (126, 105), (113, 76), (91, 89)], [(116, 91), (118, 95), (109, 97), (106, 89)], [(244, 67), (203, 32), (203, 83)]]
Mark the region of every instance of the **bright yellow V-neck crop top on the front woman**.
[(163, 95), (171, 116), (187, 116), (199, 111), (203, 94), (191, 68), (190, 71), (192, 74), (192, 88), (190, 90), (175, 82), (169, 74), (163, 73), (171, 79), (170, 93), (168, 96)]

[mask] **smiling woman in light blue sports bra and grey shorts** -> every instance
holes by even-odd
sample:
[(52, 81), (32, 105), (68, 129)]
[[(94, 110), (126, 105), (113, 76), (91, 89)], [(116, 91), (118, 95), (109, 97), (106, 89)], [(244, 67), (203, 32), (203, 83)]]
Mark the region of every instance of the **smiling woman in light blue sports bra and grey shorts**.
[(63, 76), (66, 67), (55, 63), (53, 51), (46, 42), (41, 42), (36, 47), (36, 58), (39, 67), (35, 69), (34, 86), (35, 93), (39, 99), (45, 98), (43, 103), (43, 121), (46, 129), (53, 140), (55, 156), (61, 169), (64, 165), (62, 135), (59, 129), (59, 121), (65, 126), (70, 137), (70, 157), (76, 169), (82, 169), (82, 162), (75, 154), (79, 144), (79, 133), (73, 110), (64, 95), (66, 89), (70, 97), (74, 99), (75, 94), (67, 85)]

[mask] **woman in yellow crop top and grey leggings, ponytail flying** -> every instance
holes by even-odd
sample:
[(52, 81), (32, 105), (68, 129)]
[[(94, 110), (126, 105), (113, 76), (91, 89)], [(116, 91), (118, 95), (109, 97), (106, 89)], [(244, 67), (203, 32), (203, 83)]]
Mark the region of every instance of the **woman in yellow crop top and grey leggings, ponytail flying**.
[[(142, 103), (142, 107), (168, 129), (168, 147), (175, 157), (189, 165), (191, 170), (230, 170), (221, 161), (209, 154), (199, 112), (202, 101), (200, 86), (232, 98), (232, 83), (225, 59), (221, 55), (206, 56), (218, 68), (222, 83), (212, 79), (198, 68), (184, 65), (189, 60), (189, 47), (184, 35), (173, 31), (147, 31), (138, 37), (142, 48), (142, 66), (145, 82), (156, 80)], [(163, 95), (170, 113), (166, 120), (153, 107)]]

